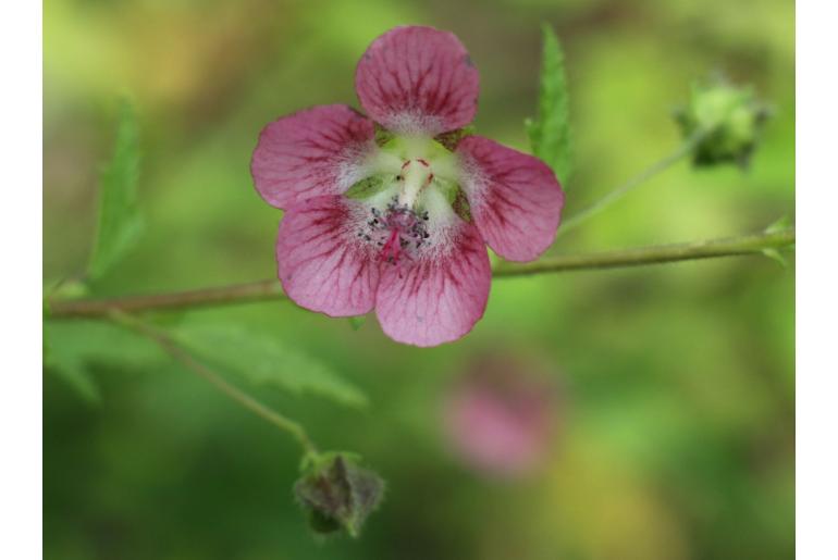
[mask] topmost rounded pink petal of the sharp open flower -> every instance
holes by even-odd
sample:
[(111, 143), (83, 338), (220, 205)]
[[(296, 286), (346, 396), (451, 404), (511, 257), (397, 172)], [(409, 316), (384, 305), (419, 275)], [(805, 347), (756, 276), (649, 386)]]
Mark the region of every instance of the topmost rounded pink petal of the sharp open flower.
[(355, 90), (367, 113), (385, 128), (434, 136), (475, 119), (479, 77), (454, 34), (396, 27), (363, 53)]

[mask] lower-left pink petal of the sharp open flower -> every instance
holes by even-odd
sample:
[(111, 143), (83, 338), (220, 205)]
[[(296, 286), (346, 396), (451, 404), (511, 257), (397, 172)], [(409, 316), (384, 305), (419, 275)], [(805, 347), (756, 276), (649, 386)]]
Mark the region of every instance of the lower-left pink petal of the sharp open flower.
[(357, 239), (365, 208), (343, 197), (318, 197), (285, 212), (276, 261), (285, 294), (298, 306), (330, 316), (372, 310), (379, 262)]

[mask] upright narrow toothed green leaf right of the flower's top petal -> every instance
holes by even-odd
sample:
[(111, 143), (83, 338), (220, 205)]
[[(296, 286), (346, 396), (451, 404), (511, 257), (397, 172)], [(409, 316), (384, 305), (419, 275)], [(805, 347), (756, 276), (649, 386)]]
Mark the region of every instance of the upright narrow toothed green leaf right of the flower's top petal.
[(551, 166), (564, 183), (571, 172), (570, 122), (565, 55), (553, 28), (542, 26), (544, 45), (535, 119), (525, 123), (532, 153)]

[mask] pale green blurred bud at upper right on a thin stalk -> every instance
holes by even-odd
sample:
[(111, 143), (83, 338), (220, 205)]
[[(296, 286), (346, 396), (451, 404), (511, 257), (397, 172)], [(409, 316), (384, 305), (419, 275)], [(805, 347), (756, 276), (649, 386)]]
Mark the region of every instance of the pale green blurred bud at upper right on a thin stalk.
[(675, 120), (685, 138), (699, 138), (694, 165), (732, 162), (745, 167), (769, 115), (752, 88), (716, 79), (693, 85), (689, 103), (675, 112)]

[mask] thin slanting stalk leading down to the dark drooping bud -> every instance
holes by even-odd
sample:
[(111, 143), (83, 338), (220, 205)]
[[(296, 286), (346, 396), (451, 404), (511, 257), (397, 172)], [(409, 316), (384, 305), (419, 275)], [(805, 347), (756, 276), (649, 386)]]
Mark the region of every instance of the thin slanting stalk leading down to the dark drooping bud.
[(315, 447), (315, 444), (311, 441), (311, 438), (308, 437), (306, 430), (299, 423), (283, 416), (273, 409), (262, 405), (238, 387), (227, 383), (221, 375), (204, 365), (189, 352), (181, 348), (177, 343), (164, 332), (156, 328), (145, 321), (140, 321), (139, 319), (125, 313), (119, 308), (111, 308), (108, 312), (108, 318), (114, 323), (128, 327), (132, 331), (141, 334), (146, 338), (149, 338), (158, 346), (160, 346), (160, 348), (165, 350), (165, 352), (169, 353), (172, 358), (181, 362), (181, 364), (183, 364), (186, 369), (210, 382), (227, 397), (235, 400), (256, 415), (267, 420), (283, 432), (288, 433), (294, 437), (294, 439), (297, 440), (297, 443), (299, 443), (305, 453), (317, 453), (317, 447)]

